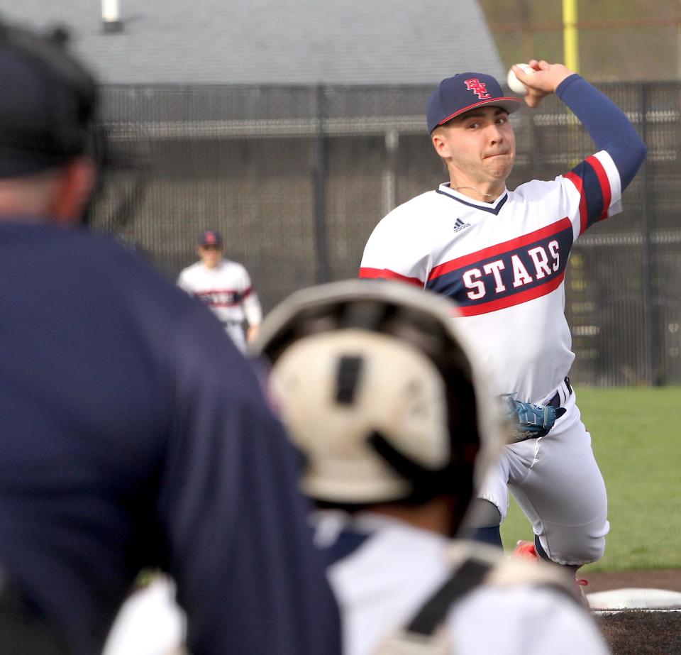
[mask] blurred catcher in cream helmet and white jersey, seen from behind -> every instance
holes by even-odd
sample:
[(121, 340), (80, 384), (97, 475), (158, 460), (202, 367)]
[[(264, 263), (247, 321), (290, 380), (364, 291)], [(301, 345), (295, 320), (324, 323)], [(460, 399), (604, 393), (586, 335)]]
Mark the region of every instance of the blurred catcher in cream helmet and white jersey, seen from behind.
[(255, 343), (320, 508), (345, 654), (605, 654), (565, 571), (452, 539), (503, 441), (451, 309), (339, 282), (284, 301)]

